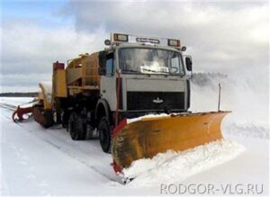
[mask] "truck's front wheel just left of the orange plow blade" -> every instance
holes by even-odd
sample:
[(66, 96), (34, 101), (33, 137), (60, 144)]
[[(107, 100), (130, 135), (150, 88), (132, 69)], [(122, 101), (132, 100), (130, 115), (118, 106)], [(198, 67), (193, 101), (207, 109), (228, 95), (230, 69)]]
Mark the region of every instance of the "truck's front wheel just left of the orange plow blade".
[(111, 152), (111, 130), (109, 121), (103, 117), (98, 126), (99, 131), (99, 141), (100, 145), (103, 148), (103, 152), (110, 153)]

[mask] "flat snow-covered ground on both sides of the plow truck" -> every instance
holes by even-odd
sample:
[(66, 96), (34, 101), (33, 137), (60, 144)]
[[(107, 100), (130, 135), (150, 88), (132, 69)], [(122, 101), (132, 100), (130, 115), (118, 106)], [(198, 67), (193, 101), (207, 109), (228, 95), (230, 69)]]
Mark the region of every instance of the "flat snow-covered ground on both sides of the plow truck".
[[(98, 140), (73, 141), (66, 130), (44, 130), (34, 121), (15, 124), (10, 110), (0, 111), (2, 194), (159, 194), (160, 184), (166, 184), (122, 185)], [(175, 184), (263, 184), (268, 193), (268, 139), (223, 134), (246, 151)]]

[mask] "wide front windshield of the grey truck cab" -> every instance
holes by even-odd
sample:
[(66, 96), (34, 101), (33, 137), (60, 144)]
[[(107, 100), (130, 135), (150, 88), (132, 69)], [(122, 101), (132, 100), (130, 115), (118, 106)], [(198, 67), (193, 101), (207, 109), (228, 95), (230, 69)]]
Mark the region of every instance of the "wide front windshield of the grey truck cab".
[(119, 65), (123, 73), (184, 75), (181, 54), (173, 50), (120, 49)]

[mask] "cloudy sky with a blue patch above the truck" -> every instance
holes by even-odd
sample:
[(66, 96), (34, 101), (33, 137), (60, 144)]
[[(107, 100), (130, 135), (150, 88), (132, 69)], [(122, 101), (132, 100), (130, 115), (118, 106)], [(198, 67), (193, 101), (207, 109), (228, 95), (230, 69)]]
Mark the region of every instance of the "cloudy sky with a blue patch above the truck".
[(38, 91), (52, 62), (103, 49), (111, 31), (180, 38), (194, 72), (268, 83), (268, 1), (5, 1), (1, 8), (0, 92)]

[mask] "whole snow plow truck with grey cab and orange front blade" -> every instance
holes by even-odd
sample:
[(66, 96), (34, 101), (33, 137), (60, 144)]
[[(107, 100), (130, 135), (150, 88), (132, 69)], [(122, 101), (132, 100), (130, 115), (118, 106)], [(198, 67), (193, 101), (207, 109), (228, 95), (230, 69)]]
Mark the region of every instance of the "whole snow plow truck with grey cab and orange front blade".
[(52, 83), (40, 83), (38, 102), (19, 107), (14, 120), (32, 112), (44, 128), (61, 124), (74, 140), (99, 138), (116, 173), (139, 158), (222, 138), (229, 112), (188, 111), (193, 63), (180, 40), (112, 33), (104, 43), (66, 67), (53, 63)]

